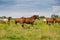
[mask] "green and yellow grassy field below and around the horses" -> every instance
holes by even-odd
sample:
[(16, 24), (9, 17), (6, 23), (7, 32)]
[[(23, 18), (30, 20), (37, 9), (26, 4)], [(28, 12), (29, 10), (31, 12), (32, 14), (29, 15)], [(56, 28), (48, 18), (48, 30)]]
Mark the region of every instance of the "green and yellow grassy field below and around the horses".
[(36, 20), (34, 25), (25, 24), (10, 25), (0, 22), (0, 40), (60, 40), (60, 24), (45, 24), (42, 19)]

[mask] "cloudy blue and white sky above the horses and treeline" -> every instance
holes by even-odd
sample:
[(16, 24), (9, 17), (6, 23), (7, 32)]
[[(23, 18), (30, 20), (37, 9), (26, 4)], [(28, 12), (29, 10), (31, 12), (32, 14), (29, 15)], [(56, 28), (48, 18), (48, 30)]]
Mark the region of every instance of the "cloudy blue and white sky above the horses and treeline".
[(0, 16), (60, 15), (60, 0), (0, 0)]

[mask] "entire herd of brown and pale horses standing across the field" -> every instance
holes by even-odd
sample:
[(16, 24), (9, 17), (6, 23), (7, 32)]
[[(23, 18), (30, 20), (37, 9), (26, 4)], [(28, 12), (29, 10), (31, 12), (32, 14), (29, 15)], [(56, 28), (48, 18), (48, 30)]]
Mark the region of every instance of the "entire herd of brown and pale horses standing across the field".
[[(39, 15), (33, 15), (27, 18), (26, 17), (15, 18), (14, 21), (16, 25), (17, 23), (21, 23), (22, 27), (24, 27), (24, 23), (33, 25), (36, 19), (40, 20)], [(0, 19), (0, 21), (7, 22), (8, 24), (10, 23), (10, 20), (11, 20), (11, 17)], [(44, 18), (43, 21), (46, 24), (60, 23), (60, 18)]]

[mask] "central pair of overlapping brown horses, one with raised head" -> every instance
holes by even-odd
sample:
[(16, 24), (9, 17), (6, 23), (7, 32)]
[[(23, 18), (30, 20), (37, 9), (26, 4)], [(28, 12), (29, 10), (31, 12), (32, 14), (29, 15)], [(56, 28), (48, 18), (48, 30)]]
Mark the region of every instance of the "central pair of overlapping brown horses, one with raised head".
[(25, 18), (25, 17), (16, 18), (15, 19), (15, 24), (21, 23), (22, 27), (24, 27), (24, 23), (33, 25), (35, 19), (39, 19), (39, 16), (38, 15), (33, 15), (32, 17), (29, 17), (29, 18)]

